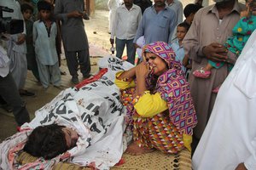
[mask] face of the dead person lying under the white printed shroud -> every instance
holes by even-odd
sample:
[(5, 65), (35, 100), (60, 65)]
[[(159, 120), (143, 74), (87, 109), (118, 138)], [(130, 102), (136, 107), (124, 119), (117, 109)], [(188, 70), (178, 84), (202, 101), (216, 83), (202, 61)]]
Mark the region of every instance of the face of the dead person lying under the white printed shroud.
[(72, 128), (68, 128), (68, 127), (62, 128), (62, 131), (65, 134), (67, 148), (71, 149), (74, 146), (76, 146), (77, 141), (79, 139), (79, 134), (76, 131), (74, 131)]

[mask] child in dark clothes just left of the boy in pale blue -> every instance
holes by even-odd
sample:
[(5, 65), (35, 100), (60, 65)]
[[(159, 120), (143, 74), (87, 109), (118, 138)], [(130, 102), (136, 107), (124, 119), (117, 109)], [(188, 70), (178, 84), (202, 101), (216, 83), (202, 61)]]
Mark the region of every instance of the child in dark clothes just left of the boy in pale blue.
[(33, 8), (28, 3), (23, 3), (20, 6), (21, 13), (23, 15), (25, 25), (26, 25), (26, 63), (27, 70), (32, 71), (34, 77), (37, 78), (38, 82), (40, 81), (38, 73), (38, 64), (36, 61), (35, 50), (33, 46), (33, 21), (31, 20), (33, 14)]

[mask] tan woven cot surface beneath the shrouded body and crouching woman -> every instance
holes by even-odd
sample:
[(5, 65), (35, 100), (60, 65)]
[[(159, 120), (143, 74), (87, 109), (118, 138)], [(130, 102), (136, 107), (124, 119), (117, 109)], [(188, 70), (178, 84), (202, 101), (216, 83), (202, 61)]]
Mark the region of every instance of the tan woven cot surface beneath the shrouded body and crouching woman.
[[(143, 154), (140, 156), (123, 155), (125, 163), (114, 166), (111, 170), (191, 170), (191, 156), (189, 150), (182, 150), (177, 155), (166, 155), (160, 151)], [(17, 161), (23, 165), (36, 161), (38, 158), (22, 152)], [(72, 163), (59, 162), (53, 170), (89, 170), (89, 167), (81, 167)]]

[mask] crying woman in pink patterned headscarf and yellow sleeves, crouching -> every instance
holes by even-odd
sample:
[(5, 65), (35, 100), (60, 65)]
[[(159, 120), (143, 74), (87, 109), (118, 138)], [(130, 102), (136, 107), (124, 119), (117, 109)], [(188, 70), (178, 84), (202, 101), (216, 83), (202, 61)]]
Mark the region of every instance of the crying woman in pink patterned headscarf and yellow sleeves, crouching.
[(133, 155), (154, 149), (177, 153), (191, 150), (195, 108), (181, 65), (166, 42), (145, 47), (145, 61), (116, 74), (116, 85), (127, 110), (127, 128), (133, 142), (126, 150)]

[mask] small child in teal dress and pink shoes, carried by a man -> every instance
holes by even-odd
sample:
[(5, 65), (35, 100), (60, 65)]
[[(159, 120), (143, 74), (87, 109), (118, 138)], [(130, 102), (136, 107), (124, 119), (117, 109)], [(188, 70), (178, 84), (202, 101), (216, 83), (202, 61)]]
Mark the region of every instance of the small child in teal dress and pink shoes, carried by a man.
[[(242, 13), (244, 14), (244, 13)], [(241, 16), (242, 16), (241, 14)], [(233, 28), (233, 36), (229, 37), (227, 42), (224, 44), (225, 47), (236, 54), (238, 57), (241, 54), (241, 50), (246, 44), (251, 33), (256, 29), (256, 0), (247, 1), (247, 16), (242, 16), (236, 26)], [(224, 62), (214, 62), (209, 59), (206, 67), (198, 69), (193, 72), (195, 77), (199, 78), (209, 78), (211, 76), (212, 68), (220, 68), (224, 65)], [(229, 71), (232, 69), (233, 65), (229, 66)], [(218, 89), (214, 89), (217, 92)]]

